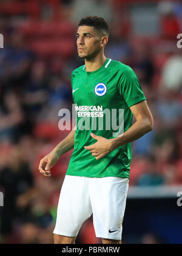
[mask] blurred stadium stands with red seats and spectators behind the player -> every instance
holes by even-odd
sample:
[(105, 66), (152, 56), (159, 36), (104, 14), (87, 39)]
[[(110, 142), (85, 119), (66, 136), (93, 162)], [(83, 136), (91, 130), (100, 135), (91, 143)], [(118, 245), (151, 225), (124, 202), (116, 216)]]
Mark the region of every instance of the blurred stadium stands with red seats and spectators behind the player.
[[(59, 191), (72, 151), (53, 167), (38, 164), (69, 131), (58, 111), (72, 110), (70, 74), (83, 64), (75, 32), (83, 16), (103, 16), (110, 27), (106, 56), (138, 75), (154, 129), (132, 143), (123, 243), (181, 243), (182, 33), (181, 1), (0, 1), (0, 243), (53, 243)], [(101, 243), (92, 218), (77, 243)]]

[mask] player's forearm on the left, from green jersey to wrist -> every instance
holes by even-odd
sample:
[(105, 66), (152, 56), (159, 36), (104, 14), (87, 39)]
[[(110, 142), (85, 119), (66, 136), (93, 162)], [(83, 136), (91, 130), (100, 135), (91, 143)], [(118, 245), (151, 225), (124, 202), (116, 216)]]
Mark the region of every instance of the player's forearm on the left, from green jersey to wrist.
[(75, 127), (73, 130), (68, 134), (68, 136), (62, 140), (54, 149), (53, 152), (60, 157), (62, 154), (66, 153), (67, 151), (71, 150), (75, 144)]

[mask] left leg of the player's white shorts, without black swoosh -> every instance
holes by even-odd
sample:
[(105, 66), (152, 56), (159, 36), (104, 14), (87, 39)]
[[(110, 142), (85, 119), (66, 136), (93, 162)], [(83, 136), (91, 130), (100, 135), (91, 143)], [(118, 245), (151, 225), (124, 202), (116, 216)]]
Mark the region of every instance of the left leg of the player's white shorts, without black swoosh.
[(87, 177), (66, 175), (59, 196), (54, 234), (76, 237), (92, 215)]

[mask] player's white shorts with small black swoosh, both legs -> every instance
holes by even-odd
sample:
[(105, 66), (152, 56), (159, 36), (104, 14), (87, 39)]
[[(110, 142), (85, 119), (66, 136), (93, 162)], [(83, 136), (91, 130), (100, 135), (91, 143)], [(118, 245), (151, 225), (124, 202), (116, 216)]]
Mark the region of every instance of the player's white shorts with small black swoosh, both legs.
[(121, 240), (128, 186), (127, 178), (66, 175), (53, 233), (76, 237), (93, 213), (96, 237)]

